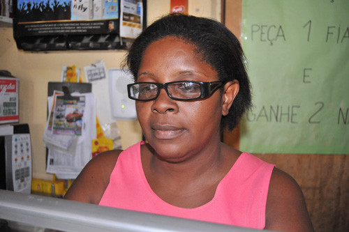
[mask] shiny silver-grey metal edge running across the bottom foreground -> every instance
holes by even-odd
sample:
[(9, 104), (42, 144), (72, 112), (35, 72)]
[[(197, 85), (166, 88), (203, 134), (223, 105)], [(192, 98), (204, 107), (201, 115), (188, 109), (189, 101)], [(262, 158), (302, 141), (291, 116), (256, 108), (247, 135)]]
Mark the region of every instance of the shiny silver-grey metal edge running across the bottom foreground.
[(6, 190), (0, 190), (0, 218), (37, 231), (258, 231)]

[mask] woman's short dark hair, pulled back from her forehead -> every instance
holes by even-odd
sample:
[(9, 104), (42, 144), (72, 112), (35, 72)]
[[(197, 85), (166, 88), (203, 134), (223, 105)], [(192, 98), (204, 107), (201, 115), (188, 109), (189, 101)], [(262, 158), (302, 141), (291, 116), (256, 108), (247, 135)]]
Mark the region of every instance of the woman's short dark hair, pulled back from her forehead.
[(218, 73), (221, 81), (239, 82), (229, 114), (221, 119), (221, 129), (232, 130), (242, 114), (251, 107), (251, 84), (246, 73), (245, 58), (239, 40), (223, 24), (205, 17), (171, 14), (156, 20), (131, 45), (126, 62), (135, 81), (147, 47), (156, 40), (173, 36), (193, 44), (202, 59)]

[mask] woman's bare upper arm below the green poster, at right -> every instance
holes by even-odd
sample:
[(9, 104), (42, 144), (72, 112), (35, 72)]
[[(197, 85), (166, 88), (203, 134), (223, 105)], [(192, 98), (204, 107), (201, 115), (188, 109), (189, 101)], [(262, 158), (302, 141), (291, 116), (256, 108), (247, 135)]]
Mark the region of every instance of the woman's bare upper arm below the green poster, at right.
[(313, 231), (302, 190), (280, 169), (274, 169), (267, 197), (265, 229), (272, 231)]

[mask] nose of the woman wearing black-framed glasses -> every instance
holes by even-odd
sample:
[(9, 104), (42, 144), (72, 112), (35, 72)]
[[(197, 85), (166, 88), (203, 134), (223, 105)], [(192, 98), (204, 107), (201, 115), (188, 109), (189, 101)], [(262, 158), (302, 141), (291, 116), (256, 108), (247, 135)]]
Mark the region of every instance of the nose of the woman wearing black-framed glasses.
[(162, 88), (158, 95), (158, 98), (154, 100), (153, 105), (151, 105), (151, 111), (159, 114), (167, 114), (168, 112), (177, 113), (178, 105), (176, 100), (172, 100), (165, 89)]

